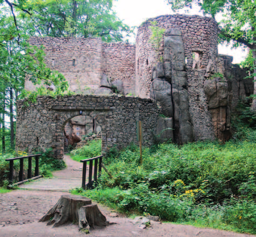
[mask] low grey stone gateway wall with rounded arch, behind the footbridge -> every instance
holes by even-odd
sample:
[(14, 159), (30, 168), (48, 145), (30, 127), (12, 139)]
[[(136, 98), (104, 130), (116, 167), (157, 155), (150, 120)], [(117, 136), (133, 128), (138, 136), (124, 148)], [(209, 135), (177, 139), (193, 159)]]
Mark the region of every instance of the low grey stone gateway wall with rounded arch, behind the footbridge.
[(102, 153), (116, 145), (137, 141), (136, 122), (142, 121), (144, 145), (151, 145), (156, 133), (159, 108), (150, 99), (127, 96), (75, 95), (52, 98), (42, 96), (36, 103), (17, 103), (16, 148), (46, 150), (52, 147), (62, 159), (64, 126), (78, 115), (91, 116), (101, 127)]

